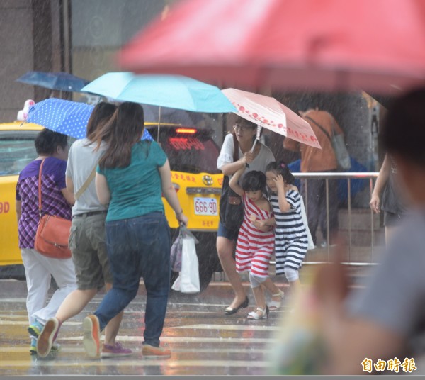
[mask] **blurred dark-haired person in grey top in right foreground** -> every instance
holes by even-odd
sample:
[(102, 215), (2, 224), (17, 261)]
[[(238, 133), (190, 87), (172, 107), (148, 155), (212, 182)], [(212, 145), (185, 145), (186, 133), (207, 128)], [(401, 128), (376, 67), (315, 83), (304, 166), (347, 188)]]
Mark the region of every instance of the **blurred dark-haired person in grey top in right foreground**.
[(395, 101), (382, 133), (406, 218), (365, 289), (348, 294), (337, 262), (319, 268), (284, 321), (273, 374), (424, 374), (417, 365), (425, 353), (424, 141), (425, 89), (418, 89)]

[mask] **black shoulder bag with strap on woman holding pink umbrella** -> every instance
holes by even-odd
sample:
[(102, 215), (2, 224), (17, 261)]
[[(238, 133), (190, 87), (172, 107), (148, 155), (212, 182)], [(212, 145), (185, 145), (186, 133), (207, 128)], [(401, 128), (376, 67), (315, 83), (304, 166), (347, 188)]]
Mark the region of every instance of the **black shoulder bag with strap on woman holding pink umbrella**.
[[(238, 159), (239, 145), (237, 138), (233, 135), (234, 153), (233, 161)], [(244, 204), (239, 194), (235, 193), (229, 186), (229, 176), (224, 176), (222, 194), (220, 196), (220, 223), (228, 230), (239, 230), (244, 220)]]

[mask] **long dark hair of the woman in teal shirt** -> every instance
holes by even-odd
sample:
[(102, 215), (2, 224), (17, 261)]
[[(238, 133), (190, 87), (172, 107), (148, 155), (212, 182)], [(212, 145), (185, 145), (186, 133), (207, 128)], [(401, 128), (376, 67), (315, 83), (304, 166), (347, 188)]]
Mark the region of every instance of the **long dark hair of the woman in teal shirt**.
[(132, 146), (140, 141), (144, 129), (142, 106), (131, 101), (120, 104), (109, 121), (96, 133), (97, 149), (102, 140), (108, 144), (99, 162), (101, 169), (128, 167)]

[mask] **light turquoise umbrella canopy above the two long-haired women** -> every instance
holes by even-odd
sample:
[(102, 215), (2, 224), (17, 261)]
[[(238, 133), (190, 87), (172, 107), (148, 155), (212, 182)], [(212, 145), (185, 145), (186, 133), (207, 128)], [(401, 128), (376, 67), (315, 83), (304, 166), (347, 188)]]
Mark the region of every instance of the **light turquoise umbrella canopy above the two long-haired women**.
[(236, 111), (220, 89), (181, 75), (135, 75), (109, 72), (81, 91), (117, 101), (133, 101), (196, 112)]

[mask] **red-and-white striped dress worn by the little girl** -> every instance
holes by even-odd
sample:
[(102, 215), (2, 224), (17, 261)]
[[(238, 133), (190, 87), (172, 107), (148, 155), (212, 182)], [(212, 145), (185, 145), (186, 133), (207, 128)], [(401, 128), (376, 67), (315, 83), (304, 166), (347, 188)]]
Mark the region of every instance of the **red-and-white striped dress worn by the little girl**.
[(264, 220), (273, 217), (273, 213), (261, 210), (246, 195), (244, 196), (244, 221), (237, 237), (236, 271), (249, 271), (254, 276), (268, 277), (268, 265), (273, 255), (274, 233), (263, 232), (254, 227), (250, 215)]

